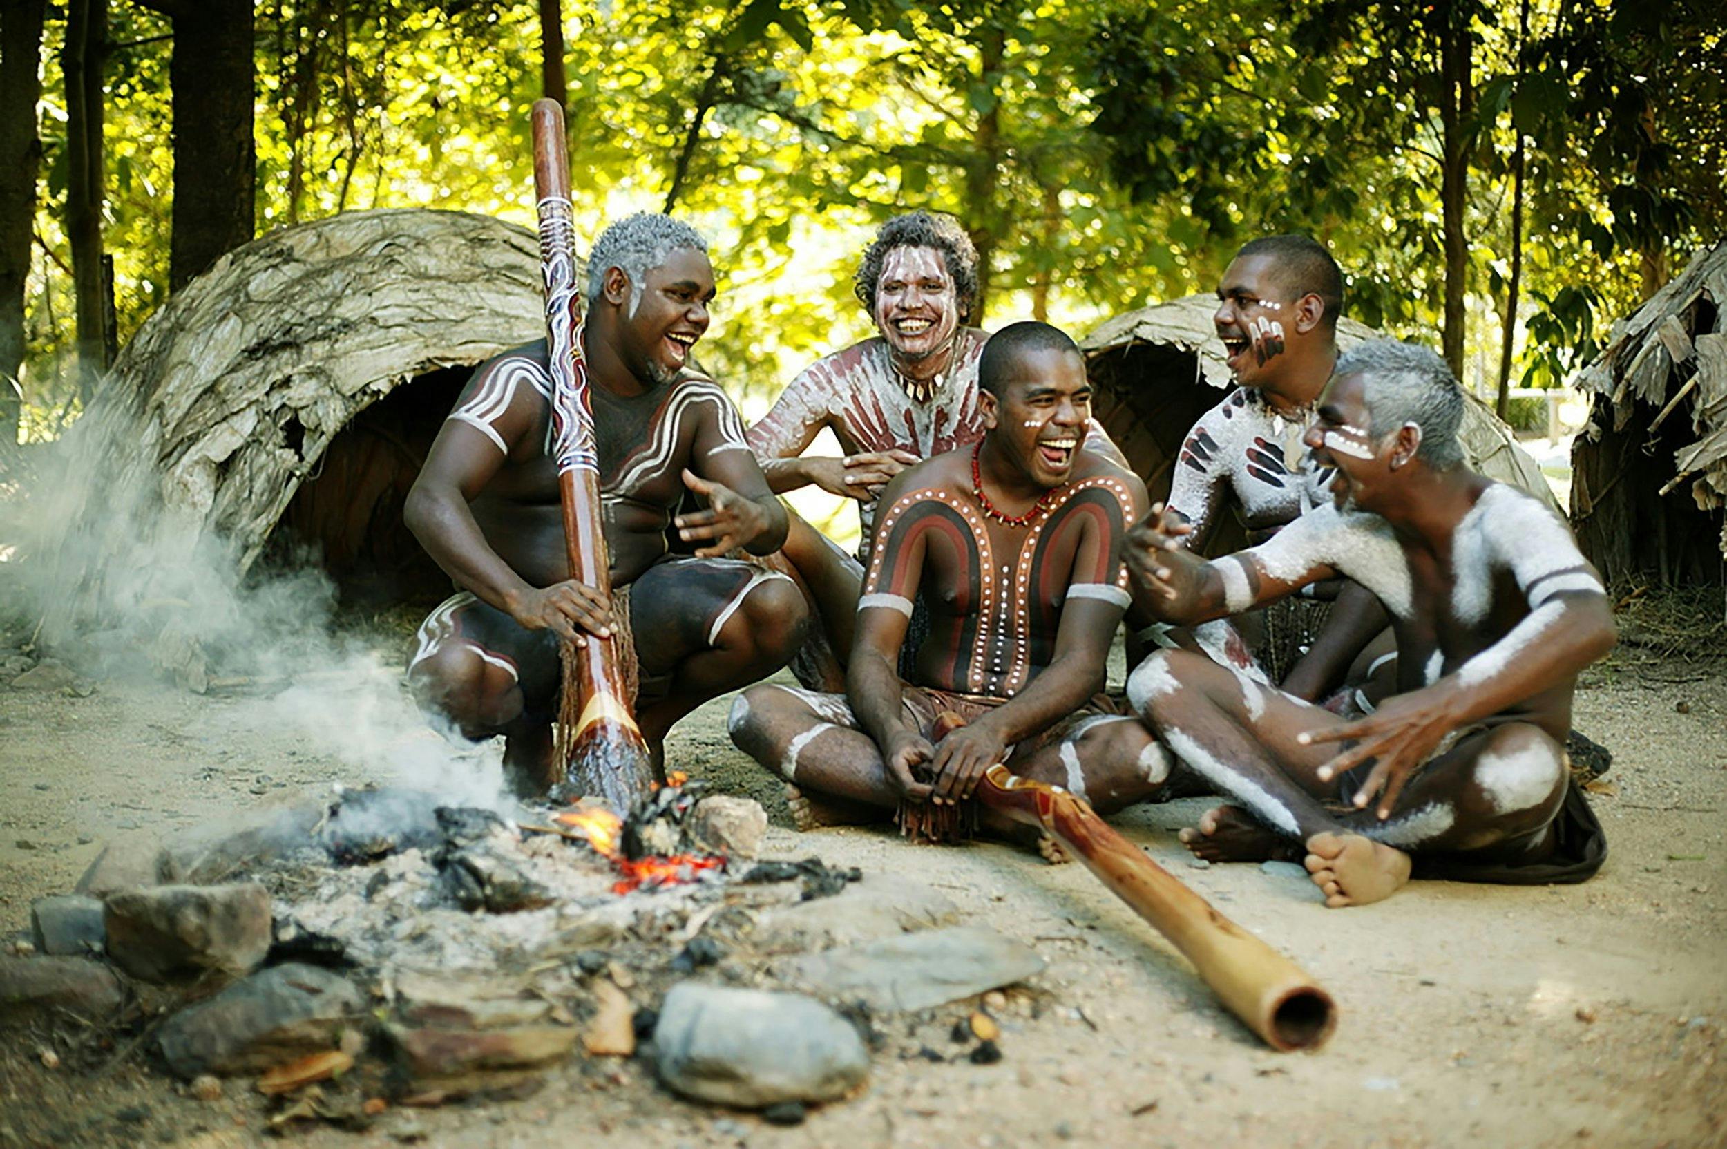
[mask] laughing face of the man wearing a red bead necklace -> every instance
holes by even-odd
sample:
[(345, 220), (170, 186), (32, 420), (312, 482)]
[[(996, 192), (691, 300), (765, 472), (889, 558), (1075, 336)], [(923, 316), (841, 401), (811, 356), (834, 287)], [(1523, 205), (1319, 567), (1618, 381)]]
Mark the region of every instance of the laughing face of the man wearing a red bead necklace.
[(1091, 418), (1091, 384), (1078, 351), (1021, 351), (1000, 394), (984, 390), (979, 406), (1000, 460), (1041, 491), (1067, 482)]

